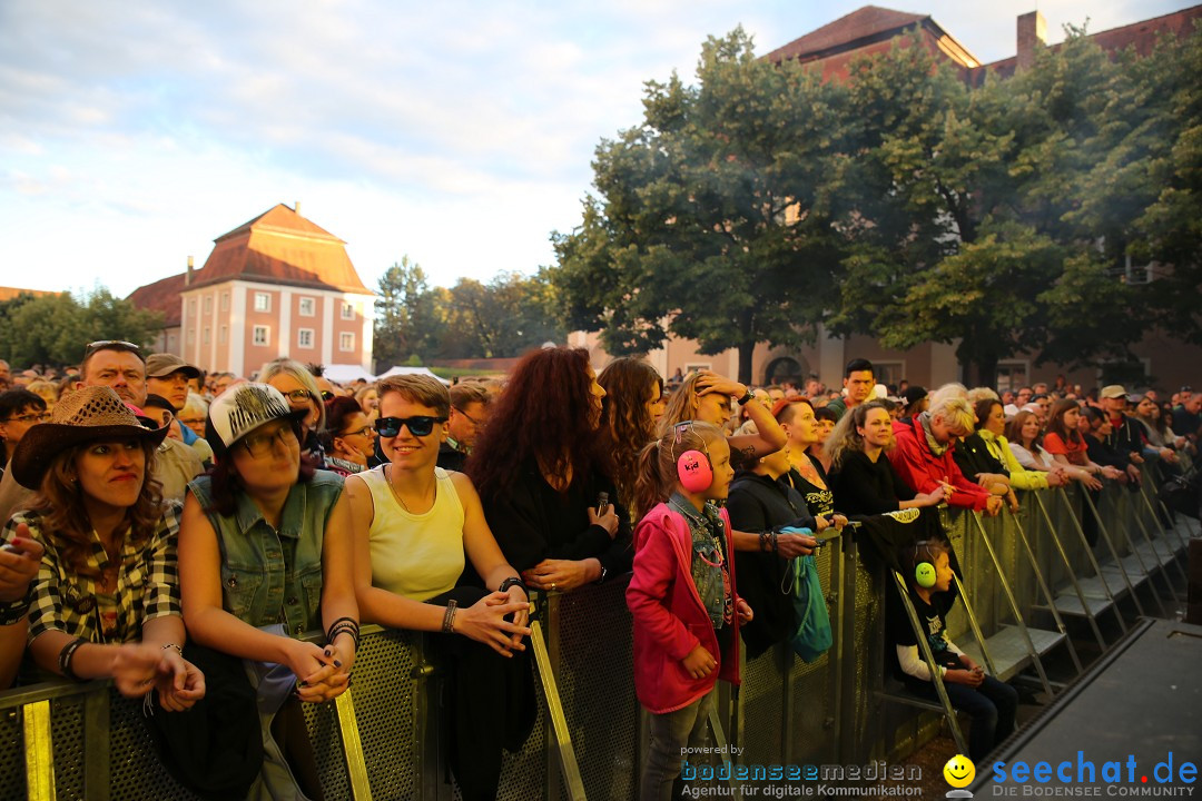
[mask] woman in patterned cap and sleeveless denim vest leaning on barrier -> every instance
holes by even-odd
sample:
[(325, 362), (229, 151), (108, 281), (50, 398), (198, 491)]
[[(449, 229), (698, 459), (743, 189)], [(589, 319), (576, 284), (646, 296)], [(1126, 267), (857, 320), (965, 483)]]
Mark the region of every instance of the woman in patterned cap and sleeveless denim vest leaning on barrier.
[[(343, 694), (358, 645), (350, 507), (343, 477), (300, 455), (308, 413), (267, 384), (219, 395), (207, 426), (216, 466), (188, 485), (180, 525), (188, 630), (248, 660), (252, 676), (264, 759), (251, 797), (298, 797), (311, 754), (292, 751), (293, 739), (280, 748), (272, 723), (303, 725), (297, 701)], [(298, 639), (315, 629), (323, 645)]]

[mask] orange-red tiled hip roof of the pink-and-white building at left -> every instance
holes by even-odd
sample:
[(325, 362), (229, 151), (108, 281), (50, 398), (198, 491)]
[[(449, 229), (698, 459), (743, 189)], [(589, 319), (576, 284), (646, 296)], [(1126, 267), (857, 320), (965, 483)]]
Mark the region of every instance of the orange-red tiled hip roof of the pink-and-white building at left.
[(214, 243), (189, 289), (240, 279), (370, 294), (345, 243), (282, 203)]

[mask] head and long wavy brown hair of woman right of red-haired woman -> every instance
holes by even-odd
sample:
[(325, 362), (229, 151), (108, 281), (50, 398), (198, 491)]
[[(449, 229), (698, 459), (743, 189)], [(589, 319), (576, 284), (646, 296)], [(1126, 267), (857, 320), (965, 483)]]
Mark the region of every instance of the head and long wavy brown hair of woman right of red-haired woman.
[(623, 357), (606, 365), (597, 383), (606, 393), (601, 399), (601, 437), (613, 459), (618, 500), (636, 512), (638, 453), (655, 438), (655, 423), (664, 416), (664, 379), (643, 359)]

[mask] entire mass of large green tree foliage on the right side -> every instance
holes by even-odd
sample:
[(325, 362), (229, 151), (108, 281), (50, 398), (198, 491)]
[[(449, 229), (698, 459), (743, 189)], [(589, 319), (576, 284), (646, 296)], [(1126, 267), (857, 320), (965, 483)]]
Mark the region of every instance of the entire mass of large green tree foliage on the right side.
[[(1109, 56), (1082, 30), (982, 85), (916, 42), (841, 84), (702, 46), (603, 141), (583, 223), (555, 234), (569, 325), (613, 353), (671, 333), (707, 353), (825, 323), (887, 347), (1123, 359), (1152, 328), (1202, 340), (1202, 35)], [(1143, 265), (1156, 262), (1155, 280)]]

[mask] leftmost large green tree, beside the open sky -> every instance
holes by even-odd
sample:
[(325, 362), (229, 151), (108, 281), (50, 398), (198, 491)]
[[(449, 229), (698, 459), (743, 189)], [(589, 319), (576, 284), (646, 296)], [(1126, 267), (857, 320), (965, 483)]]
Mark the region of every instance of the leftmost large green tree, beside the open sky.
[(841, 252), (831, 226), (844, 91), (755, 58), (742, 29), (702, 46), (697, 85), (649, 82), (639, 126), (603, 141), (583, 223), (553, 234), (569, 328), (615, 354), (668, 333), (704, 353), (813, 339)]

